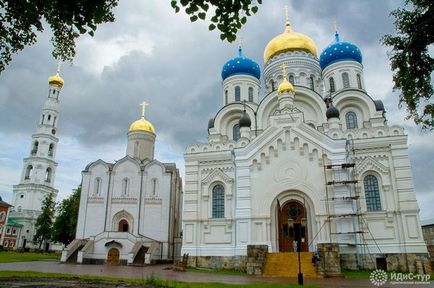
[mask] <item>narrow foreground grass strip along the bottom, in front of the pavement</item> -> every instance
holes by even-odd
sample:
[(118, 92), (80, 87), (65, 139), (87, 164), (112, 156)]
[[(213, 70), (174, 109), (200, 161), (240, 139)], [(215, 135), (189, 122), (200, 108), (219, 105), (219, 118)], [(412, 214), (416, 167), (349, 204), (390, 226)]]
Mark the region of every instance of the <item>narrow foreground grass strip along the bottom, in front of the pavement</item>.
[[(130, 279), (130, 278), (117, 278), (108, 276), (92, 276), (92, 275), (71, 275), (71, 274), (59, 274), (59, 273), (39, 273), (30, 271), (0, 271), (0, 281), (7, 279), (80, 279), (83, 281), (101, 281), (110, 283), (129, 283), (135, 285), (149, 285), (154, 287), (168, 287), (168, 288), (296, 288), (299, 287), (296, 284), (276, 284), (276, 283), (258, 283), (258, 284), (223, 284), (223, 283), (194, 283), (194, 282), (178, 282), (171, 280), (162, 280), (155, 276), (148, 276), (144, 279)], [(37, 280), (35, 280), (36, 282)], [(306, 285), (307, 288), (317, 288), (318, 286)]]

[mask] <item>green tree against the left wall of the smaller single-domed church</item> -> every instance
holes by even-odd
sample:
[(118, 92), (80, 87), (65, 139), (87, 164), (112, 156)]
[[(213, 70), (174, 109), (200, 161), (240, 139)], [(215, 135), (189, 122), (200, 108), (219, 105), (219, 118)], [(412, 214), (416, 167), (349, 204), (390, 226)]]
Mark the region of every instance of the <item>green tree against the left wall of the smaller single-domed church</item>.
[(63, 199), (57, 206), (57, 217), (54, 221), (51, 240), (61, 242), (66, 246), (75, 239), (80, 194), (81, 186), (78, 186), (68, 198)]

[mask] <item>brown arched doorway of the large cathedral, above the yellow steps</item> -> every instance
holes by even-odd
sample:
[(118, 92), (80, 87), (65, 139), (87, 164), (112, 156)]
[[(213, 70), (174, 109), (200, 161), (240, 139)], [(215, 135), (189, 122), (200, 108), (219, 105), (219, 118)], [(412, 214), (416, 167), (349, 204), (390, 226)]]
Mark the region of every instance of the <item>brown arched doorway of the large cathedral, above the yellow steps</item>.
[(289, 200), (282, 206), (277, 205), (279, 251), (296, 252), (295, 243), (300, 243), (300, 251), (308, 251), (309, 241), (306, 207), (297, 200)]

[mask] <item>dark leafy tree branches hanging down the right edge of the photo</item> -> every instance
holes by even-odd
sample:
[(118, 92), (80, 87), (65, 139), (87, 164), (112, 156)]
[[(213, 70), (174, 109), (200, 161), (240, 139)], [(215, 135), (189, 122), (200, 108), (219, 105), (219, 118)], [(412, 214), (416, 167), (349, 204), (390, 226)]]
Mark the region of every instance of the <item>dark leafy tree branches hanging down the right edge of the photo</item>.
[(394, 89), (400, 90), (399, 103), (407, 107), (407, 119), (413, 118), (423, 128), (434, 128), (434, 101), (431, 74), (434, 59), (428, 47), (434, 43), (434, 1), (407, 0), (408, 9), (391, 12), (397, 35), (385, 35), (384, 45), (391, 46), (389, 55)]

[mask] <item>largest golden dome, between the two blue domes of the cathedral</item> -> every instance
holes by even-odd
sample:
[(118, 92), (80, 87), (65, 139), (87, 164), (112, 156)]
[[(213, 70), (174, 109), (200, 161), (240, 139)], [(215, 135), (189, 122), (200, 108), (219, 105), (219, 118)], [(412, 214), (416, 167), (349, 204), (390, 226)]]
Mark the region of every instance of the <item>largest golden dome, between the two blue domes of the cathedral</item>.
[(273, 56), (287, 51), (305, 51), (317, 56), (313, 40), (304, 34), (293, 32), (288, 21), (285, 32), (271, 39), (265, 47), (264, 63), (267, 63)]

